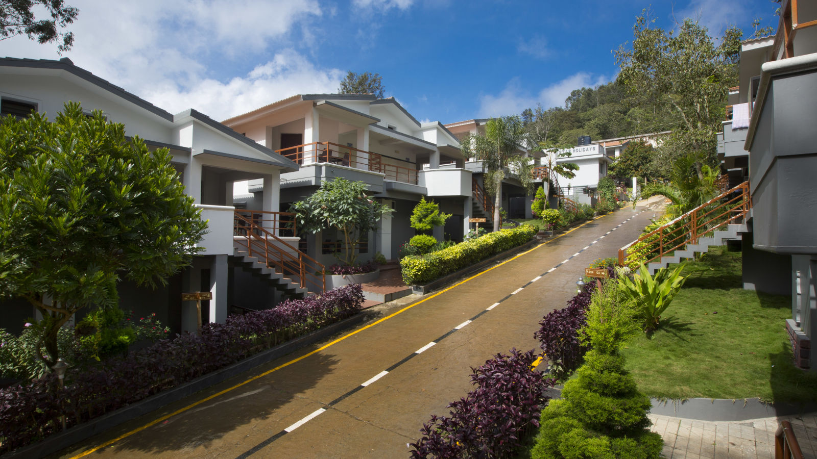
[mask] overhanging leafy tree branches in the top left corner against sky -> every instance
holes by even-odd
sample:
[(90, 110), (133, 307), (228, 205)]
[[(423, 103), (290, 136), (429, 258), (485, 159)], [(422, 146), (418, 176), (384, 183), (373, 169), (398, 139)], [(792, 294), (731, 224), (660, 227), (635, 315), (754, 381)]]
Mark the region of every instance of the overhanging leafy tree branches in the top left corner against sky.
[[(37, 19), (34, 11), (44, 12), (49, 19)], [(26, 35), (41, 44), (60, 42), (57, 49), (68, 51), (74, 45), (74, 33), (60, 29), (72, 24), (78, 12), (77, 8), (65, 6), (63, 0), (3, 0), (0, 2), (0, 41)]]

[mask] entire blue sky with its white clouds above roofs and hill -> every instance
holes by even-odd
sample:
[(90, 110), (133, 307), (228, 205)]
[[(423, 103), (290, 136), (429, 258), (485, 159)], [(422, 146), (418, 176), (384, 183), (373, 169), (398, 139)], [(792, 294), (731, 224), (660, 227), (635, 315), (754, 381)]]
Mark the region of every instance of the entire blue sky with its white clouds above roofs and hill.
[[(66, 2), (79, 9), (74, 64), (172, 113), (219, 120), (337, 91), (348, 69), (381, 74), (386, 96), (420, 120), (519, 114), (614, 78), (612, 51), (644, 8), (659, 27), (692, 17), (713, 35), (778, 19), (771, 0)], [(20, 37), (0, 41), (0, 56), (60, 58)]]

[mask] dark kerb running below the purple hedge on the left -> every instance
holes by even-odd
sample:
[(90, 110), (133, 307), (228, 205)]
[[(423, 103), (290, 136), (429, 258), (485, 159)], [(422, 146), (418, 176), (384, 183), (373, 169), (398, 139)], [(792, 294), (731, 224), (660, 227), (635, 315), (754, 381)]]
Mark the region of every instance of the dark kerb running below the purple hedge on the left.
[(114, 412), (109, 412), (100, 417), (96, 417), (91, 421), (84, 422), (78, 426), (71, 427), (65, 432), (53, 434), (43, 439), (39, 443), (29, 444), (23, 448), (18, 448), (12, 452), (3, 454), (2, 459), (17, 459), (28, 457), (44, 457), (53, 452), (58, 452), (61, 449), (79, 443), (84, 439), (88, 439), (93, 435), (100, 434), (105, 430), (109, 430), (114, 426), (118, 426), (127, 421), (132, 421), (137, 417), (145, 415), (149, 412), (162, 408), (165, 405), (177, 402), (185, 397), (195, 394), (201, 390), (208, 389), (212, 385), (217, 385), (220, 382), (226, 381), (231, 377), (238, 376), (243, 372), (247, 372), (252, 368), (256, 368), (264, 363), (269, 363), (272, 360), (279, 359), (286, 354), (290, 354), (307, 345), (311, 345), (316, 341), (321, 341), (332, 336), (337, 332), (352, 328), (358, 325), (367, 318), (366, 312), (359, 312), (354, 316), (343, 319), (340, 322), (333, 323), (328, 327), (315, 330), (304, 336), (300, 336), (293, 340), (287, 341), (283, 344), (276, 345), (268, 350), (263, 350), (258, 354), (243, 359), (240, 362), (228, 365), (225, 368), (209, 372), (206, 375), (198, 377), (193, 381), (174, 387), (173, 389), (164, 390), (158, 394), (151, 395), (147, 399), (132, 403), (124, 408), (119, 408)]

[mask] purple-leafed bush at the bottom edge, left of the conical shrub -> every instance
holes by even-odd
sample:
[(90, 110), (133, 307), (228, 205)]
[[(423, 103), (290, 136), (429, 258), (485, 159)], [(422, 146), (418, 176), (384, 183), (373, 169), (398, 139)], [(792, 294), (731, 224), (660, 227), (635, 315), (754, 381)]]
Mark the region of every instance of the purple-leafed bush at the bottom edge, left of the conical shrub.
[(544, 395), (554, 380), (531, 365), (534, 350), (497, 354), (480, 368), (471, 368), (476, 389), (450, 403), (449, 417), (432, 416), (423, 424), (422, 438), (411, 443), (411, 456), (509, 457), (522, 446), (530, 426), (539, 426)]

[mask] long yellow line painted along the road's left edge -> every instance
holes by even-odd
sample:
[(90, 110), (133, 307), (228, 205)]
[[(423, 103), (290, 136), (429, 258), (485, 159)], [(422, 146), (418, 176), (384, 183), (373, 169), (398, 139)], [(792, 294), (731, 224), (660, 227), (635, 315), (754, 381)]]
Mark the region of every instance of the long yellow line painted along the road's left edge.
[[(228, 387), (228, 388), (227, 388), (227, 389), (225, 389), (225, 390), (221, 390), (221, 391), (217, 392), (216, 394), (212, 394), (212, 395), (210, 395), (210, 396), (208, 396), (208, 397), (206, 397), (206, 398), (204, 398), (204, 399), (201, 399), (201, 400), (199, 400), (199, 401), (197, 401), (197, 402), (190, 403), (189, 405), (187, 405), (187, 406), (186, 406), (186, 407), (184, 407), (184, 408), (179, 408), (179, 409), (177, 409), (176, 411), (174, 411), (174, 412), (172, 412), (172, 413), (170, 413), (170, 414), (166, 414), (166, 415), (164, 415), (163, 417), (159, 417), (158, 419), (155, 419), (154, 421), (150, 421), (150, 422), (148, 422), (147, 424), (145, 424), (144, 426), (136, 427), (136, 429), (134, 429), (134, 430), (131, 430), (131, 431), (129, 431), (129, 432), (127, 432), (127, 433), (125, 433), (125, 434), (119, 435), (117, 438), (112, 439), (112, 440), (108, 440), (108, 441), (106, 441), (105, 443), (102, 443), (102, 444), (100, 444), (100, 445), (98, 445), (98, 446), (96, 446), (96, 447), (94, 447), (94, 448), (88, 449), (87, 451), (81, 452), (81, 453), (79, 453), (78, 455), (76, 455), (76, 456), (74, 456), (74, 457), (70, 457), (70, 459), (78, 459), (79, 457), (85, 457), (85, 456), (87, 456), (88, 454), (91, 454), (92, 452), (96, 452), (96, 451), (99, 451), (99, 450), (100, 450), (100, 449), (102, 449), (102, 448), (106, 448), (106, 447), (108, 447), (108, 446), (110, 446), (110, 445), (112, 445), (112, 444), (114, 444), (114, 443), (118, 442), (119, 440), (124, 439), (124, 438), (127, 438), (127, 437), (131, 436), (132, 434), (136, 434), (137, 432), (141, 432), (141, 430), (145, 430), (145, 429), (147, 429), (147, 428), (148, 428), (148, 427), (150, 427), (150, 426), (155, 426), (155, 425), (156, 425), (156, 424), (158, 424), (159, 422), (166, 421), (167, 419), (170, 419), (171, 417), (174, 417), (174, 416), (176, 416), (177, 414), (181, 414), (182, 412), (185, 412), (185, 411), (189, 410), (190, 408), (194, 408), (194, 407), (196, 407), (196, 406), (200, 405), (201, 403), (207, 402), (208, 400), (215, 399), (215, 398), (216, 398), (216, 397), (218, 397), (219, 395), (223, 395), (223, 394), (226, 394), (227, 392), (230, 392), (231, 390), (238, 389), (238, 388), (239, 388), (239, 387), (241, 387), (242, 385), (245, 385), (245, 384), (248, 384), (248, 383), (250, 383), (250, 382), (252, 382), (252, 381), (255, 381), (255, 380), (257, 380), (258, 378), (261, 378), (261, 377), (266, 377), (267, 375), (269, 375), (269, 374), (270, 374), (270, 373), (272, 373), (272, 372), (277, 372), (277, 371), (278, 371), (278, 370), (280, 370), (281, 368), (285, 368), (285, 367), (288, 367), (289, 365), (292, 365), (292, 363), (297, 363), (297, 362), (300, 362), (301, 360), (306, 359), (307, 357), (310, 357), (311, 355), (317, 354), (317, 353), (319, 353), (320, 351), (327, 349), (329, 346), (336, 345), (337, 343), (339, 343), (339, 342), (341, 342), (341, 341), (343, 341), (343, 340), (346, 340), (346, 338), (348, 338), (348, 337), (350, 337), (350, 336), (354, 336), (354, 335), (358, 334), (359, 332), (363, 332), (363, 331), (364, 331), (364, 330), (366, 330), (367, 328), (372, 328), (372, 327), (374, 327), (375, 325), (377, 325), (378, 323), (385, 322), (386, 320), (391, 319), (392, 317), (395, 317), (395, 315), (402, 314), (402, 313), (404, 313), (405, 311), (412, 309), (414, 306), (419, 305), (419, 304), (421, 304), (421, 303), (424, 303), (424, 302), (426, 302), (426, 301), (429, 301), (429, 300), (431, 300), (431, 298), (434, 298), (435, 296), (440, 296), (440, 295), (442, 295), (443, 293), (448, 292), (448, 291), (449, 291), (449, 290), (451, 290), (452, 288), (454, 288), (454, 287), (458, 287), (458, 286), (462, 285), (463, 283), (467, 283), (467, 282), (468, 282), (468, 281), (470, 281), (471, 279), (474, 279), (474, 278), (476, 278), (476, 277), (479, 277), (479, 276), (481, 276), (482, 274), (485, 274), (485, 273), (487, 273), (487, 272), (488, 272), (488, 271), (490, 271), (490, 270), (494, 270), (494, 269), (498, 268), (499, 266), (502, 266), (502, 265), (504, 265), (504, 264), (506, 264), (506, 263), (509, 263), (509, 262), (511, 262), (511, 261), (514, 261), (514, 260), (516, 260), (517, 258), (519, 258), (520, 256), (523, 256), (523, 255), (528, 254), (528, 253), (530, 253), (530, 252), (534, 252), (534, 250), (538, 249), (539, 247), (542, 247), (542, 246), (544, 246), (544, 245), (545, 245), (545, 244), (547, 244), (547, 243), (551, 243), (552, 241), (555, 241), (556, 239), (561, 238), (562, 236), (565, 236), (565, 235), (567, 235), (567, 234), (569, 234), (569, 233), (573, 232), (574, 230), (578, 230), (578, 229), (579, 229), (579, 228), (581, 228), (582, 226), (587, 225), (588, 223), (590, 223), (590, 222), (592, 222), (592, 221), (596, 221), (596, 220), (598, 220), (598, 219), (600, 219), (601, 217), (606, 216), (606, 215), (609, 215), (609, 214), (605, 214), (605, 215), (602, 215), (602, 216), (597, 216), (597, 217), (596, 217), (596, 218), (594, 218), (593, 220), (586, 221), (586, 222), (584, 222), (582, 225), (578, 225), (578, 226), (576, 226), (576, 227), (574, 227), (574, 228), (572, 228), (572, 229), (570, 229), (570, 230), (568, 230), (568, 231), (565, 231), (564, 233), (559, 234), (559, 235), (558, 235), (558, 236), (556, 236), (555, 238), (548, 239), (547, 241), (545, 241), (545, 242), (543, 242), (543, 243), (539, 244), (538, 246), (536, 246), (536, 247), (534, 247), (534, 248), (532, 248), (532, 249), (530, 249), (530, 250), (527, 250), (527, 251), (525, 251), (525, 252), (521, 252), (521, 253), (517, 254), (516, 256), (514, 256), (514, 257), (512, 257), (512, 258), (507, 259), (506, 261), (502, 261), (502, 263), (499, 263), (499, 264), (498, 264), (498, 265), (496, 265), (496, 266), (491, 266), (491, 267), (490, 267), (489, 269), (487, 269), (487, 270), (480, 271), (480, 273), (474, 274), (474, 275), (472, 275), (472, 276), (471, 276), (470, 278), (468, 278), (468, 279), (465, 279), (465, 280), (462, 280), (461, 282), (455, 283), (455, 284), (453, 284), (451, 287), (445, 288), (444, 290), (440, 290), (440, 292), (436, 292), (434, 295), (431, 295), (431, 296), (428, 296), (428, 297), (426, 297), (426, 298), (423, 298), (422, 300), (417, 301), (416, 303), (412, 303), (411, 305), (408, 305), (408, 306), (404, 307), (403, 309), (401, 309), (401, 310), (399, 310), (399, 311), (397, 311), (397, 312), (395, 312), (395, 313), (393, 313), (393, 314), (389, 314), (389, 315), (387, 315), (386, 317), (384, 317), (384, 318), (382, 318), (382, 319), (377, 320), (376, 322), (369, 323), (369, 324), (368, 324), (368, 325), (366, 325), (365, 327), (358, 328), (358, 329), (357, 329), (357, 330), (355, 330), (354, 332), (347, 333), (346, 335), (341, 336), (340, 338), (337, 338), (337, 340), (335, 340), (335, 341), (331, 341), (331, 342), (329, 342), (328, 344), (323, 345), (323, 346), (319, 347), (318, 349), (311, 351), (311, 352), (310, 352), (310, 353), (308, 353), (308, 354), (303, 354), (303, 355), (301, 355), (301, 357), (298, 357), (297, 359), (292, 359), (292, 360), (288, 361), (287, 363), (282, 363), (282, 364), (280, 364), (279, 366), (277, 366), (277, 367), (275, 367), (275, 368), (272, 368), (271, 370), (267, 370), (266, 372), (263, 372), (263, 373), (261, 373), (261, 374), (258, 374), (258, 375), (256, 375), (256, 376), (254, 376), (254, 377), (249, 378), (247, 381), (242, 381), (242, 382), (239, 382), (238, 384), (233, 385), (232, 387)], [(536, 364), (538, 365), (538, 362), (540, 362), (540, 361), (541, 361), (541, 358), (539, 358), (539, 360), (537, 361), (537, 363), (536, 363)]]

